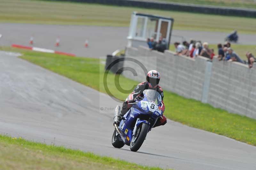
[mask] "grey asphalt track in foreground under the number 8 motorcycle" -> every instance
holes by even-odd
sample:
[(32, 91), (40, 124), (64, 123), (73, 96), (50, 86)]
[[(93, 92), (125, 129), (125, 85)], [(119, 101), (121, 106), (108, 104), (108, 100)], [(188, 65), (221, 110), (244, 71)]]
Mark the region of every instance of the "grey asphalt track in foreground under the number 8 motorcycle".
[[(176, 170), (255, 170), (256, 147), (168, 120), (138, 152), (111, 145), (108, 95), (0, 51), (0, 133)], [(103, 107), (103, 111), (100, 110)]]

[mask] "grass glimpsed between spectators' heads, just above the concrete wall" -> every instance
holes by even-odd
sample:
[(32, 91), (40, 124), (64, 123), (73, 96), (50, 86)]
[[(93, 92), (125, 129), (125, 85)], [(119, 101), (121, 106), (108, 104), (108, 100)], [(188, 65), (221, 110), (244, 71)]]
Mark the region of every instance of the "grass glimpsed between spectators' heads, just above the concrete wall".
[[(246, 52), (251, 52), (252, 54), (256, 54), (255, 51), (256, 45), (241, 45), (241, 44), (231, 44), (231, 48), (238, 54), (243, 60), (247, 60)], [(209, 44), (210, 49), (214, 49), (215, 55), (218, 55), (217, 44)], [(175, 51), (175, 47), (173, 44), (170, 45), (169, 48), (171, 51)], [(255, 55), (254, 55), (255, 56)]]

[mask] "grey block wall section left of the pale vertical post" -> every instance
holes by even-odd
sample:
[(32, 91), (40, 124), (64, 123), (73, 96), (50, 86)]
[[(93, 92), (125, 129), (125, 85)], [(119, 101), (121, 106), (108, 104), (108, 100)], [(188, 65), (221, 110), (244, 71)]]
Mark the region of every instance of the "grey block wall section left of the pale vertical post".
[[(145, 57), (147, 56), (147, 57)], [(176, 56), (172, 51), (165, 53), (150, 51), (147, 47), (127, 48), (126, 57), (135, 58), (143, 63), (147, 70), (158, 70), (161, 74), (161, 87), (181, 96), (202, 100), (205, 67), (207, 58), (196, 59)], [(124, 62), (124, 67), (132, 67), (138, 73), (137, 77), (129, 71), (123, 75), (137, 81), (145, 81), (144, 71), (132, 62)]]

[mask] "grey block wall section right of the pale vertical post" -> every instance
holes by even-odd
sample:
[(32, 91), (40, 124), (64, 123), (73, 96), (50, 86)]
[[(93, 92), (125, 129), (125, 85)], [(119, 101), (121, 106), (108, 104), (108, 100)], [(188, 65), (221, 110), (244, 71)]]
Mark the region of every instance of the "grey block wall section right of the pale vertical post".
[(256, 118), (256, 69), (213, 59), (208, 103)]

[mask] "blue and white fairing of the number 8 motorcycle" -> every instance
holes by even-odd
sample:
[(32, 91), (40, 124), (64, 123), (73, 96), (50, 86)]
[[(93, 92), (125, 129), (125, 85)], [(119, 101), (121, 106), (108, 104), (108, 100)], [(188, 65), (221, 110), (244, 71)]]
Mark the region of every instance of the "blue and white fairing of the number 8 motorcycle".
[(144, 99), (132, 106), (123, 116), (124, 120), (121, 120), (119, 125), (120, 132), (122, 133), (121, 139), (127, 145), (130, 145), (132, 131), (135, 126), (139, 127), (141, 123), (147, 123), (149, 125), (148, 131), (150, 131), (155, 125), (156, 120), (163, 115), (161, 95), (153, 89), (144, 90), (143, 94)]

